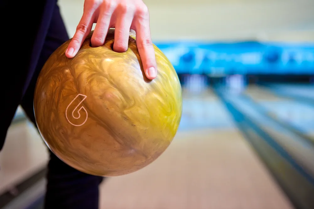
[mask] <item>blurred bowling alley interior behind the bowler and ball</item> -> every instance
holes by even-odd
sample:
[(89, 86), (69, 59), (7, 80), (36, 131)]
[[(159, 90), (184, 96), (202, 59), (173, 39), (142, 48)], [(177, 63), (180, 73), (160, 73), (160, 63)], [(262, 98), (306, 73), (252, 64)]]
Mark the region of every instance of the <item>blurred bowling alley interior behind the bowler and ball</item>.
[[(180, 81), (181, 120), (157, 159), (104, 178), (99, 208), (313, 209), (314, 1), (143, 2)], [(84, 0), (58, 5), (73, 37)], [(19, 106), (0, 208), (44, 209), (48, 149)]]

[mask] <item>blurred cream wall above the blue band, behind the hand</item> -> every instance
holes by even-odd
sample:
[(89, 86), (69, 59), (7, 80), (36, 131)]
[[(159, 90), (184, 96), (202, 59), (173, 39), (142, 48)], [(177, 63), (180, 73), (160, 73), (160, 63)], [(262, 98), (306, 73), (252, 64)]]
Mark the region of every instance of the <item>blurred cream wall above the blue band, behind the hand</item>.
[[(144, 0), (159, 40), (314, 39), (314, 0)], [(73, 36), (84, 0), (59, 0)]]

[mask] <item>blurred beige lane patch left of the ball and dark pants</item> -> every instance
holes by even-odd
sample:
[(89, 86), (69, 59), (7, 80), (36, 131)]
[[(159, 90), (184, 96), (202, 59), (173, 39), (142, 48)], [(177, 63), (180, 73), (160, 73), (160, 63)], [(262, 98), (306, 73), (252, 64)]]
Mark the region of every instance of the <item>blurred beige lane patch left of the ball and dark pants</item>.
[[(20, 111), (20, 110), (19, 110)], [(48, 161), (46, 145), (34, 126), (24, 120), (13, 123), (0, 152), (0, 194), (42, 170)]]

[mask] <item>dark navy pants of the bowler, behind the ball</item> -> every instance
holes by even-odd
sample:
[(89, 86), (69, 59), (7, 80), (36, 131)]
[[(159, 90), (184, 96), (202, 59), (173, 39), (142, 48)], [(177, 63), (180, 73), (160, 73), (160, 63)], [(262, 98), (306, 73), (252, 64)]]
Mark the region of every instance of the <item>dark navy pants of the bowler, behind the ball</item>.
[[(33, 109), (33, 95), (38, 74), (51, 53), (68, 39), (69, 37), (60, 16), (59, 8), (55, 5), (48, 33), (46, 34), (45, 42), (41, 49), (40, 57), (36, 64), (36, 69), (31, 78), (30, 84), (26, 88), (26, 91), (24, 90), (25, 86), (21, 85), (21, 89), (19, 91), (25, 91), (22, 98), (13, 98), (14, 95), (11, 95), (13, 100), (21, 101), (20, 105), (23, 107), (27, 117), (34, 123), (34, 125), (36, 125), (36, 123)], [(23, 74), (16, 73), (16, 79), (19, 79), (18, 76), (21, 75)], [(5, 80), (5, 78), (3, 78), (3, 80)], [(15, 85), (14, 87), (16, 88), (17, 86)], [(16, 105), (18, 105), (18, 103)], [(3, 143), (0, 143), (1, 146), (2, 144)], [(50, 152), (45, 208), (98, 208), (98, 186), (102, 179), (102, 177), (88, 175), (73, 169)]]

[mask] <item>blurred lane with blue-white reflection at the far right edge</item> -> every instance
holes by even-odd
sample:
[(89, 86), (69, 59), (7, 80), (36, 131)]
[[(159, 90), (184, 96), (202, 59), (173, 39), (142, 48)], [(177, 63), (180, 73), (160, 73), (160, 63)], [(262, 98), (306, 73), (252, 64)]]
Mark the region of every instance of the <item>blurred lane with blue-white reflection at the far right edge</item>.
[[(303, 86), (302, 89), (308, 92), (311, 91), (310, 88)], [(272, 117), (291, 125), (314, 142), (314, 106), (300, 100), (279, 97), (274, 91), (255, 85), (247, 88), (245, 94), (261, 105)]]

